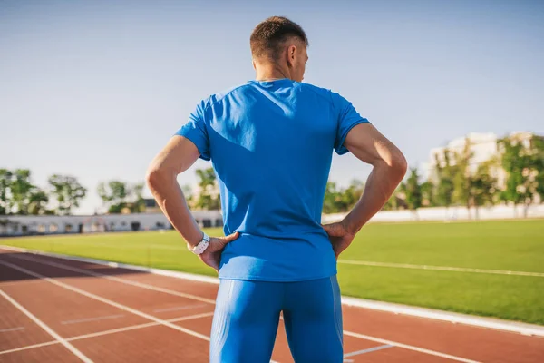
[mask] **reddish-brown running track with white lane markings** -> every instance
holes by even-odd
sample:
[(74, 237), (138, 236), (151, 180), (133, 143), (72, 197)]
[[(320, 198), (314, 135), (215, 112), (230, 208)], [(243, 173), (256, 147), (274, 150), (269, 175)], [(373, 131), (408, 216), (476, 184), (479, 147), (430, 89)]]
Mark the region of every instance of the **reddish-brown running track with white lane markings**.
[[(0, 250), (0, 362), (208, 362), (217, 289)], [(389, 312), (344, 307), (344, 329), (345, 362), (544, 361), (544, 338)], [(281, 321), (272, 359), (293, 361)]]

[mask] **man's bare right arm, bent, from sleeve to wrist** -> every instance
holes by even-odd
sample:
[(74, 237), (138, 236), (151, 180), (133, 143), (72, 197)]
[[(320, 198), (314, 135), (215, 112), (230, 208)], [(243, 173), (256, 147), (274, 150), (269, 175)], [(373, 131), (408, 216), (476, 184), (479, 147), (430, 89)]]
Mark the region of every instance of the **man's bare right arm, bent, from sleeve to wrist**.
[(363, 196), (343, 221), (346, 230), (355, 234), (389, 200), (403, 180), (407, 164), (403, 153), (370, 123), (356, 125), (344, 144), (359, 160), (373, 166)]

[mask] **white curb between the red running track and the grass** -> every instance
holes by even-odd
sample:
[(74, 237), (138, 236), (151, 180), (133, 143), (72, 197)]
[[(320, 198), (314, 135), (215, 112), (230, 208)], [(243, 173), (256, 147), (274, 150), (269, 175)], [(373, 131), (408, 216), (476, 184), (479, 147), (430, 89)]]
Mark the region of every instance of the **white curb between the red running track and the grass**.
[[(14, 250), (17, 252), (33, 253), (36, 255), (56, 257), (56, 258), (64, 259), (64, 260), (77, 260), (80, 262), (96, 263), (100, 265), (110, 266), (113, 268), (137, 270), (141, 272), (153, 273), (156, 275), (169, 276), (169, 277), (177, 278), (177, 279), (193, 280), (198, 282), (206, 282), (206, 283), (219, 285), (218, 278), (212, 278), (209, 276), (202, 276), (202, 275), (197, 275), (197, 274), (192, 274), (187, 272), (152, 269), (152, 268), (146, 268), (142, 266), (130, 265), (126, 263), (112, 262), (107, 260), (95, 260), (95, 259), (89, 259), (84, 257), (63, 255), (59, 253), (44, 252), (41, 250), (26, 250), (26, 249), (21, 249), (21, 248), (11, 247), (11, 246), (4, 246), (4, 245), (0, 245), (0, 249)], [(342, 304), (344, 304), (345, 306), (354, 306), (357, 308), (387, 311), (387, 312), (392, 312), (393, 314), (402, 314), (402, 315), (408, 315), (408, 316), (413, 316), (418, 318), (449, 321), (454, 324), (471, 325), (471, 326), (479, 327), (479, 328), (504, 330), (504, 331), (510, 331), (513, 333), (520, 333), (522, 335), (544, 337), (544, 326), (521, 323), (517, 321), (476, 317), (472, 315), (454, 313), (454, 312), (443, 311), (438, 309), (417, 308), (417, 307), (412, 307), (408, 305), (394, 304), (391, 302), (374, 301), (374, 300), (368, 300), (368, 299), (357, 299), (357, 298), (351, 298), (346, 296), (342, 296)]]

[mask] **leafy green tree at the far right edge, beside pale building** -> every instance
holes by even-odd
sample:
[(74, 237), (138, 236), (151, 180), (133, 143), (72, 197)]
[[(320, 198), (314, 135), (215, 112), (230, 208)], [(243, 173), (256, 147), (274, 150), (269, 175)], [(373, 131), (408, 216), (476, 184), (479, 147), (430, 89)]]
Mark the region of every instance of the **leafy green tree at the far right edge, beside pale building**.
[(503, 151), (501, 165), (508, 175), (500, 199), (523, 204), (526, 217), (535, 196), (544, 192), (544, 141), (533, 137), (530, 146), (524, 147), (520, 141), (505, 138), (500, 140), (499, 145)]

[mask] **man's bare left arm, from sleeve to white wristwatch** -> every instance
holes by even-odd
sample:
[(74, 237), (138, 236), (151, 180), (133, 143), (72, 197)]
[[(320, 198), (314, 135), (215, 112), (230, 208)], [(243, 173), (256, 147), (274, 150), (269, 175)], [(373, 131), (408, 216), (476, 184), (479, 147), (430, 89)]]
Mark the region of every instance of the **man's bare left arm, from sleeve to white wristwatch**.
[(182, 136), (174, 136), (153, 159), (146, 176), (147, 184), (160, 209), (192, 246), (202, 239), (202, 232), (190, 214), (176, 178), (180, 172), (189, 169), (199, 159), (199, 155), (194, 143)]

